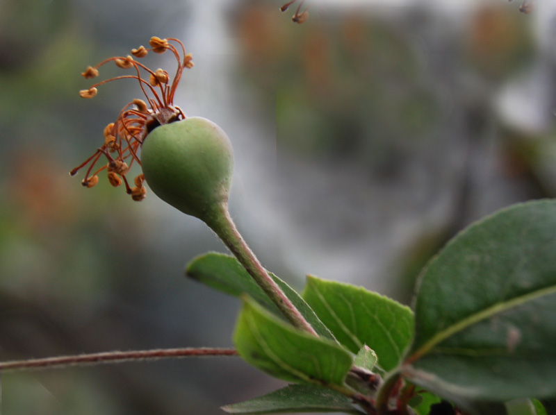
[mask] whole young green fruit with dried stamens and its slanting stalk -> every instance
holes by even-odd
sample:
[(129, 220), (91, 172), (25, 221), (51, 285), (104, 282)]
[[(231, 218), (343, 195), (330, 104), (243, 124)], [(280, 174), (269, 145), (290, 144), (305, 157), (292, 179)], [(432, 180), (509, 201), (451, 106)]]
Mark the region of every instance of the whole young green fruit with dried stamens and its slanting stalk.
[[(229, 216), (234, 156), (227, 135), (212, 121), (186, 117), (174, 105), (174, 93), (183, 70), (193, 67), (191, 54), (174, 38), (152, 37), (149, 46), (149, 49), (144, 46), (133, 49), (133, 56), (108, 58), (83, 72), (85, 79), (96, 78), (99, 68), (108, 62), (131, 71), (82, 90), (79, 94), (83, 98), (94, 97), (97, 87), (105, 83), (133, 79), (138, 81), (146, 101), (134, 99), (124, 106), (116, 121), (104, 128), (104, 144), (70, 174), (74, 176), (88, 166), (81, 183), (90, 188), (98, 183), (98, 173), (106, 170), (111, 185), (118, 187), (124, 183), (134, 201), (145, 198), (147, 190), (143, 182), (146, 181), (163, 201), (201, 219), (214, 230), (284, 316), (295, 327), (316, 336), (315, 330), (257, 260)], [(170, 51), (174, 55), (177, 71), (173, 78), (163, 69), (154, 71), (136, 60), (145, 58), (149, 51)], [(95, 171), (95, 165), (103, 157), (107, 163)], [(134, 178), (135, 187), (126, 178), (133, 162), (140, 164), (143, 171)]]

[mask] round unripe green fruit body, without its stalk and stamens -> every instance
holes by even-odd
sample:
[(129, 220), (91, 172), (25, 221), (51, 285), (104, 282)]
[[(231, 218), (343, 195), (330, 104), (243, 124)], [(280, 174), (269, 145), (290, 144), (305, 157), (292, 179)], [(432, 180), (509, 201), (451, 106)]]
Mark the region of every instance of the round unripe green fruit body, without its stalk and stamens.
[(154, 128), (142, 143), (141, 165), (152, 191), (183, 213), (206, 221), (228, 201), (234, 155), (226, 133), (208, 119)]

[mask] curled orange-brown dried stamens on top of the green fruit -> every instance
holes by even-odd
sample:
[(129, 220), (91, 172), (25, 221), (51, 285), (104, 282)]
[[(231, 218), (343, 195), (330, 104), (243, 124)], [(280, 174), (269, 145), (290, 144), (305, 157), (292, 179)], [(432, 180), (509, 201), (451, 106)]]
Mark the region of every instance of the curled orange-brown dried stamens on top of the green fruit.
[[(89, 166), (81, 183), (85, 187), (93, 187), (99, 181), (98, 173), (106, 169), (108, 181), (111, 185), (117, 187), (124, 183), (126, 192), (131, 195), (134, 201), (141, 201), (145, 198), (147, 192), (143, 185), (145, 178), (140, 174), (134, 179), (135, 186), (131, 187), (126, 174), (129, 173), (134, 162), (140, 165), (137, 153), (143, 139), (152, 128), (186, 117), (179, 107), (174, 106), (174, 94), (183, 69), (193, 67), (191, 54), (186, 53), (179, 40), (174, 38), (161, 39), (154, 36), (149, 40), (149, 45), (151, 46), (150, 49), (140, 46), (137, 49), (132, 49), (131, 55), (108, 58), (95, 67), (87, 67), (81, 73), (85, 79), (96, 78), (99, 75), (99, 67), (106, 65), (108, 62), (114, 62), (121, 69), (134, 69), (133, 74), (115, 76), (101, 81), (89, 87), (88, 90), (81, 90), (79, 95), (82, 98), (92, 98), (97, 94), (97, 87), (100, 85), (127, 78), (138, 81), (145, 100), (133, 99), (125, 105), (115, 122), (104, 128), (104, 144), (85, 162), (70, 171), (73, 176), (83, 167)], [(170, 51), (175, 56), (177, 71), (173, 78), (167, 71), (163, 69), (153, 71), (135, 59), (144, 58), (149, 51), (155, 53)], [(94, 171), (95, 165), (103, 156), (108, 162)]]

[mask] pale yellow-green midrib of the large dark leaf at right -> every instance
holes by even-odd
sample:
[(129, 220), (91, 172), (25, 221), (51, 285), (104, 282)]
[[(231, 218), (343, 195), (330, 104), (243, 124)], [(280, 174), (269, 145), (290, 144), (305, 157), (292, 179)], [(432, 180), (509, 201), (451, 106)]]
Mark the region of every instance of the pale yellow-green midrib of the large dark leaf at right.
[(513, 307), (518, 307), (520, 305), (523, 305), (530, 300), (535, 300), (537, 298), (541, 298), (542, 296), (548, 296), (554, 293), (556, 293), (556, 285), (552, 287), (538, 289), (537, 291), (532, 291), (523, 296), (512, 298), (511, 300), (496, 303), (494, 305), (491, 305), (491, 307), (485, 308), (481, 312), (471, 314), (471, 316), (468, 316), (466, 317), (466, 319), (459, 321), (459, 323), (451, 325), (450, 327), (445, 328), (441, 332), (436, 333), (429, 341), (427, 341), (425, 344), (423, 344), (423, 346), (418, 348), (415, 353), (411, 354), (407, 358), (406, 362), (407, 363), (415, 362), (420, 357), (423, 357), (423, 355), (426, 355), (437, 344), (440, 344), (445, 339), (448, 339), (448, 337), (452, 336), (453, 334), (456, 334), (457, 332), (461, 332), (462, 330), (465, 330), (466, 328), (470, 327), (475, 323), (478, 323), (482, 320), (489, 319), (489, 317), (510, 310)]

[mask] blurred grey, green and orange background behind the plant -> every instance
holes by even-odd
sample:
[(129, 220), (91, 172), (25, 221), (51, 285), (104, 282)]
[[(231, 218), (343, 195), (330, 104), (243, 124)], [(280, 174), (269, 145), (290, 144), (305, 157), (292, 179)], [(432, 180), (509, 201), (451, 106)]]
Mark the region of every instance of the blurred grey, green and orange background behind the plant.
[[(550, 2), (348, 3), (317, 1), (298, 26), (277, 0), (0, 2), (2, 360), (231, 346), (238, 302), (182, 276), (224, 250), (202, 223), (67, 174), (138, 97), (122, 82), (79, 99), (81, 71), (152, 35), (193, 53), (177, 104), (231, 137), (234, 217), (297, 288), (313, 273), (410, 303), (455, 232), (556, 195)], [(1, 405), (220, 414), (277, 386), (239, 359), (185, 359), (4, 374)]]

